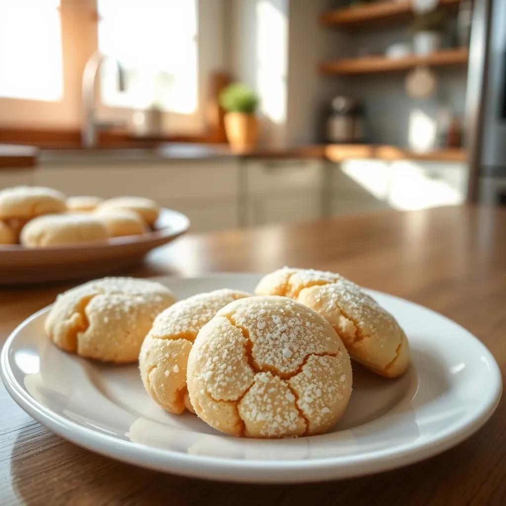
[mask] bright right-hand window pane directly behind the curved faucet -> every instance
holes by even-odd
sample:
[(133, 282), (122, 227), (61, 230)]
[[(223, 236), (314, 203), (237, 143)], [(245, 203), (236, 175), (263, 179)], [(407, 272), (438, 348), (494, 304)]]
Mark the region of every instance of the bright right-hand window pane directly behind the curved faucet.
[(197, 0), (98, 0), (98, 49), (105, 62), (101, 99), (107, 106), (192, 114), (198, 107)]

